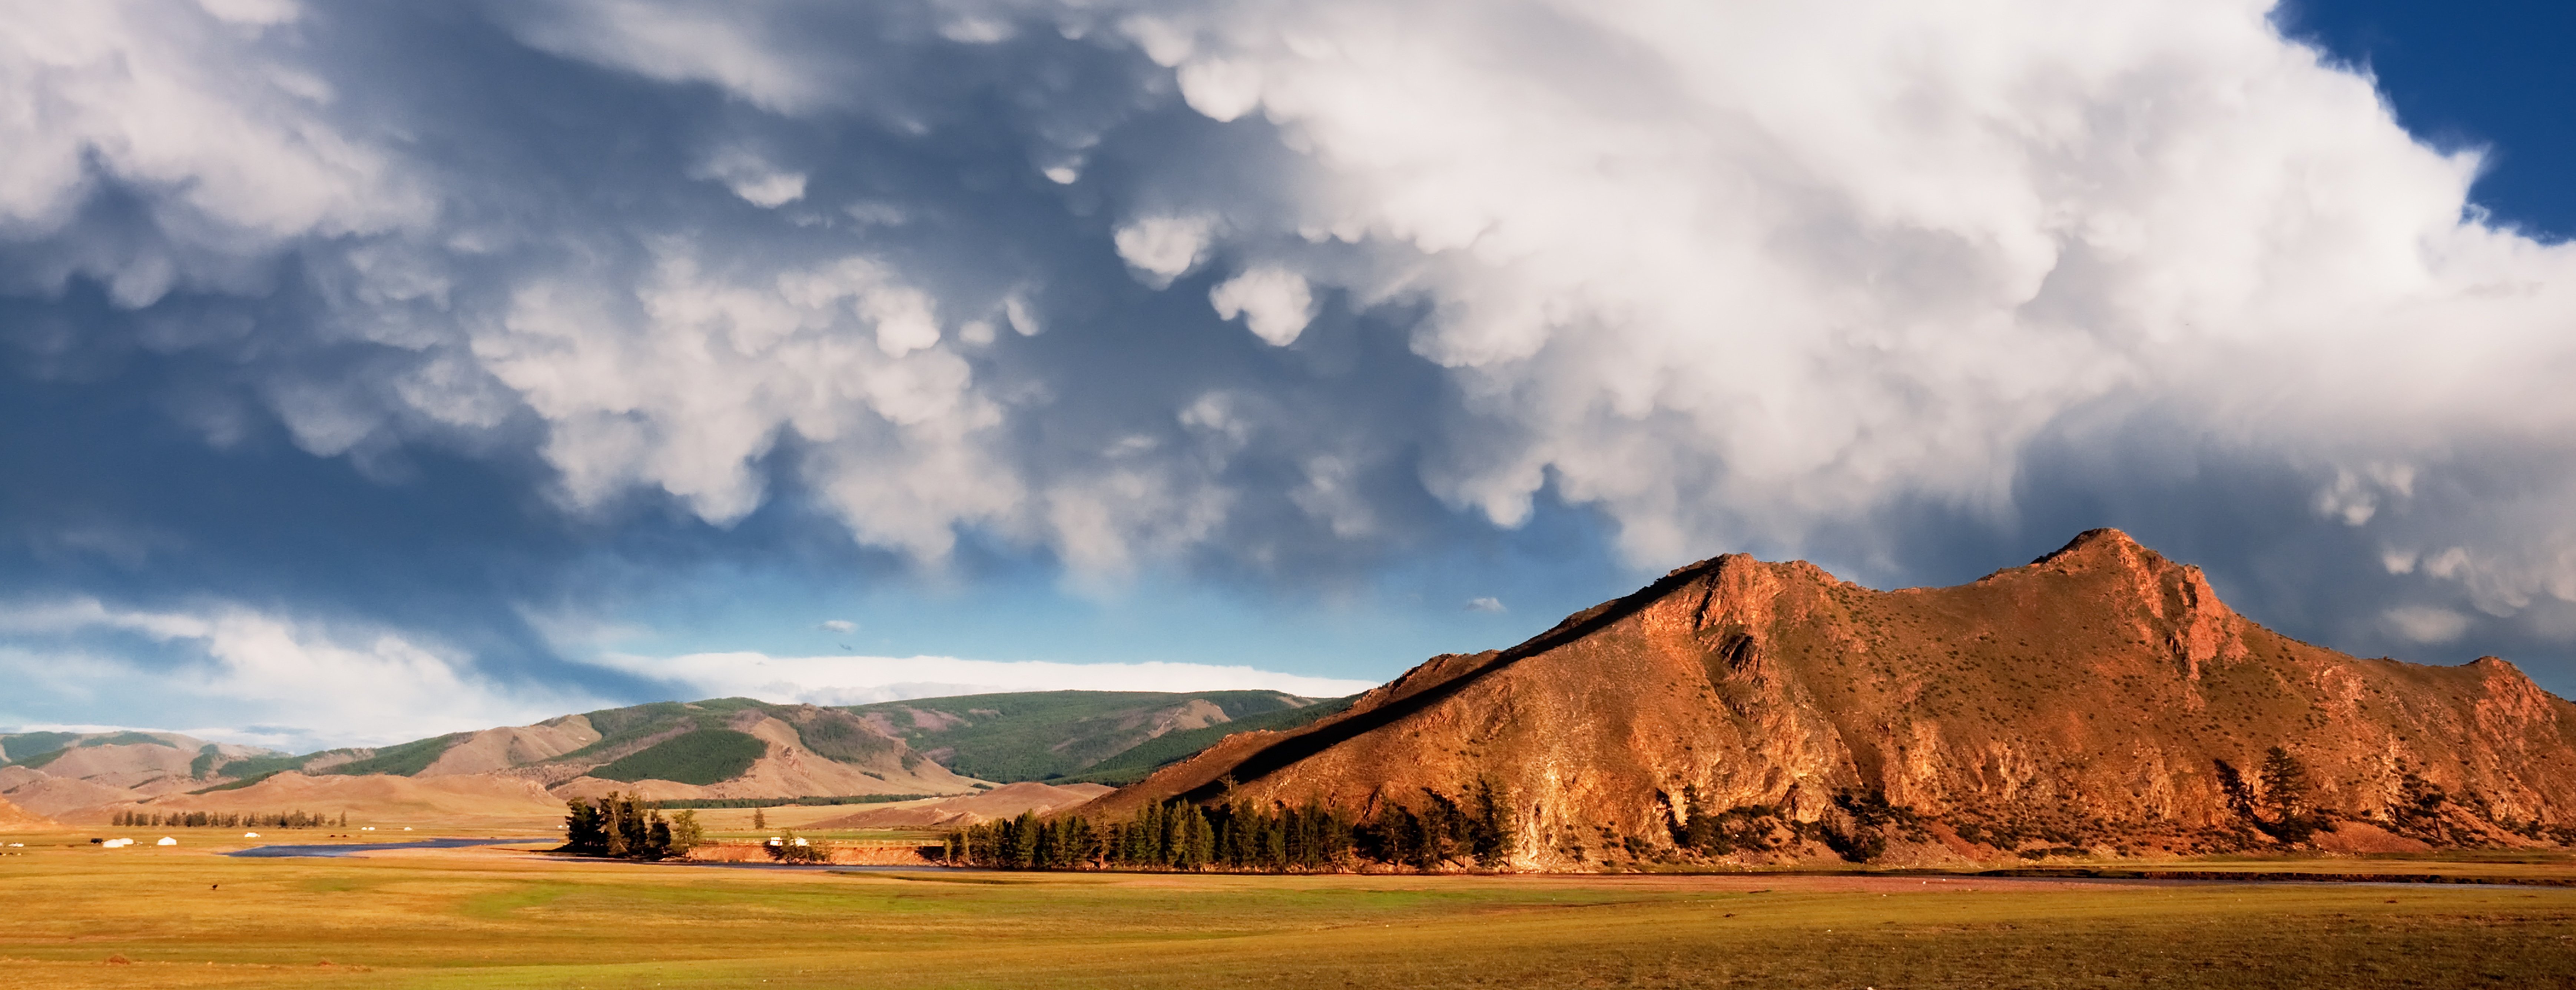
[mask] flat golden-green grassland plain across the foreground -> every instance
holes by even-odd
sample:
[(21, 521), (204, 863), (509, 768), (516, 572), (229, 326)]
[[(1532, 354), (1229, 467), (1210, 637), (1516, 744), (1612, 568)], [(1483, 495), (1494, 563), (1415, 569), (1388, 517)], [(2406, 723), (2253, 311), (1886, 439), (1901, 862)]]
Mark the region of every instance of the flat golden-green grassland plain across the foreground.
[[(2566, 887), (835, 874), (513, 848), (260, 861), (214, 856), (242, 846), (240, 833), (175, 835), (180, 848), (126, 851), (93, 848), (85, 833), (8, 835), (28, 846), (0, 856), (0, 985), (2576, 985), (2576, 889)], [(2568, 877), (2566, 864), (2445, 866)]]

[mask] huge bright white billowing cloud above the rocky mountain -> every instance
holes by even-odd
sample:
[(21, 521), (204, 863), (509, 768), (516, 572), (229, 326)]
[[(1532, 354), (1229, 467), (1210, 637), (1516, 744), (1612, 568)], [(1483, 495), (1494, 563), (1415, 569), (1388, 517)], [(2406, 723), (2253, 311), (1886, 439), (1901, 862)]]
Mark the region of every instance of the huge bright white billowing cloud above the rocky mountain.
[[(1476, 428), (1425, 480), (1497, 523), (1553, 485), (1662, 565), (1904, 500), (2002, 516), (2032, 438), (2130, 410), (2419, 536), (2388, 508), (2450, 454), (2576, 428), (2537, 358), (2568, 353), (2576, 248), (2486, 224), (2476, 155), (2416, 142), (2267, 3), (1468, 10), (1131, 34), (1190, 106), (1257, 106), (1321, 173), (1291, 229), (1234, 214), (1229, 240), (1414, 250), (1303, 276), (1435, 304), (1412, 345)], [(2463, 534), (2524, 596), (2576, 578), (2550, 549), (2576, 469), (2530, 456), (2558, 521), (2483, 503)]]

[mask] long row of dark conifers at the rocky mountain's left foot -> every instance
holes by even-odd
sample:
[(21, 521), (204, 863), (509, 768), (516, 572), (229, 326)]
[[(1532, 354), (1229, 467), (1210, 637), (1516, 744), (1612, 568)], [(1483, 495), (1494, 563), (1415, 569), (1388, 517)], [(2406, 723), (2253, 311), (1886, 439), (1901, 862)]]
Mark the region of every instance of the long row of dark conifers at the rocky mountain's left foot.
[(1494, 789), (1463, 799), (1425, 789), (1417, 807), (1386, 804), (1358, 820), (1306, 802), (1146, 804), (1126, 820), (1064, 817), (971, 825), (948, 835), (948, 861), (999, 869), (1234, 869), (1340, 871), (1363, 864), (1412, 869), (1497, 866), (1510, 820)]

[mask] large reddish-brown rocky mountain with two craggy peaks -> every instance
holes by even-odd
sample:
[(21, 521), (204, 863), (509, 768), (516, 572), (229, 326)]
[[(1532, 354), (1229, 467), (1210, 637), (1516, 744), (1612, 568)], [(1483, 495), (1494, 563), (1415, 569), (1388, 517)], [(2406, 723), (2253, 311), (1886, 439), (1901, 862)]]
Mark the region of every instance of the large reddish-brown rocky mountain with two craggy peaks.
[(2576, 706), (2494, 657), (2432, 668), (2275, 634), (2117, 531), (1891, 593), (1731, 554), (1095, 807), (1234, 794), (1370, 815), (1479, 781), (1525, 869), (2563, 843)]

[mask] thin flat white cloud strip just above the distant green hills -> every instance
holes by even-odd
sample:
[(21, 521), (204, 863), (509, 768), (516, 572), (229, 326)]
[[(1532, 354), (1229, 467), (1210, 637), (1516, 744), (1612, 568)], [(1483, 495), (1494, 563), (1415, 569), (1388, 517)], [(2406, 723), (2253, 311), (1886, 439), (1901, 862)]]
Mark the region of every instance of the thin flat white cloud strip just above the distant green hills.
[(641, 678), (683, 683), (698, 696), (750, 696), (778, 704), (868, 704), (987, 691), (1285, 691), (1329, 699), (1376, 686), (1370, 681), (1203, 663), (770, 657), (760, 652), (605, 655), (595, 663)]

